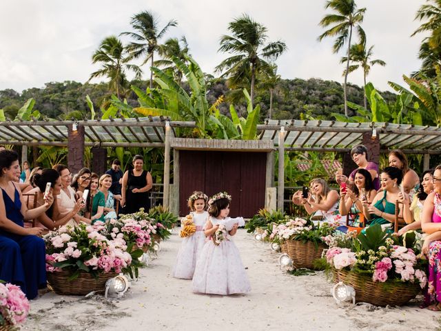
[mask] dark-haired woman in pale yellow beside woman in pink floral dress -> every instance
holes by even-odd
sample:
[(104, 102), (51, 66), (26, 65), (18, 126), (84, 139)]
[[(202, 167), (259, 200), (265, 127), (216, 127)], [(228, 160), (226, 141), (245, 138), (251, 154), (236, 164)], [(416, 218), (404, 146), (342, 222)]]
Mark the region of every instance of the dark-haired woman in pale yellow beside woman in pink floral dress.
[(404, 228), (398, 231), (398, 235), (411, 230), (418, 230), (421, 228), (422, 208), (424, 207), (424, 201), (427, 199), (427, 195), (433, 191), (433, 170), (426, 170), (422, 173), (420, 188), (418, 188), (417, 194), (413, 196), (413, 201), (410, 203), (409, 195), (405, 194), (398, 199), (404, 205), (402, 212), (404, 221), (407, 223)]

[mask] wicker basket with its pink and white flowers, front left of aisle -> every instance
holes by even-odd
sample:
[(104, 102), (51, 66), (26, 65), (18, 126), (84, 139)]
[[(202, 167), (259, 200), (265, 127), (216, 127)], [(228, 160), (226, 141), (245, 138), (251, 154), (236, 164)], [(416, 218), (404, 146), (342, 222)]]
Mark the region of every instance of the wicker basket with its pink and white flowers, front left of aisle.
[[(75, 228), (63, 226), (44, 237), (48, 282), (55, 292), (87, 294), (91, 288), (85, 279), (90, 280), (92, 287), (103, 286), (108, 278), (131, 268), (132, 256), (127, 252), (124, 234), (115, 234), (110, 240), (103, 230), (101, 222), (96, 225), (82, 223)], [(74, 282), (78, 278), (80, 281)], [(66, 281), (71, 283), (66, 284)], [(85, 286), (83, 292), (79, 284)]]

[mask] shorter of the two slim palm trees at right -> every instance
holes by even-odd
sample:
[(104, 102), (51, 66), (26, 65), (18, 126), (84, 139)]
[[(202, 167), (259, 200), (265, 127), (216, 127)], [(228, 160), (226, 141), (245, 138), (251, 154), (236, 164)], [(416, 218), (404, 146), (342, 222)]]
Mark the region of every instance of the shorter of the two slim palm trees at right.
[[(376, 60), (371, 60), (371, 57), (373, 55), (372, 52), (373, 46), (371, 46), (369, 48), (369, 50), (366, 51), (366, 45), (362, 44), (362, 43), (356, 43), (355, 45), (351, 46), (351, 61), (353, 63), (357, 63), (357, 64), (353, 64), (351, 66), (349, 66), (349, 73), (357, 70), (358, 68), (362, 68), (363, 70), (363, 90), (365, 91), (365, 109), (367, 109), (367, 99), (366, 99), (366, 77), (369, 74), (369, 71), (371, 70), (371, 66), (374, 66), (376, 64), (379, 64), (380, 66), (386, 66), (386, 62), (380, 60), (380, 59), (376, 59)], [(342, 57), (340, 63), (345, 63), (347, 62), (347, 57)], [(343, 74), (346, 74), (346, 70), (345, 72), (343, 72)]]

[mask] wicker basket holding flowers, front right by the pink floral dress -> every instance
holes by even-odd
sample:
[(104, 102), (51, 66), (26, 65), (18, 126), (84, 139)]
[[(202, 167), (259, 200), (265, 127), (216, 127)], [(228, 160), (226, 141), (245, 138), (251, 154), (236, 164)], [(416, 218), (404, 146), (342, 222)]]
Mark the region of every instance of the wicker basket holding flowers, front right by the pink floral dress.
[(334, 281), (342, 281), (356, 290), (356, 302), (373, 305), (405, 305), (414, 299), (421, 288), (419, 284), (386, 281), (373, 281), (366, 274), (357, 274), (346, 270), (334, 270)]

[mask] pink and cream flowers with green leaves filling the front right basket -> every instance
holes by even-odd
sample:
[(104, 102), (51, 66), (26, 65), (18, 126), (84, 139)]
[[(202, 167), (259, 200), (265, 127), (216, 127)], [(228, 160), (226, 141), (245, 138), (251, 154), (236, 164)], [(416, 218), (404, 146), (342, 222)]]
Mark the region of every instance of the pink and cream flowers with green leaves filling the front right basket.
[(413, 248), (394, 242), (380, 225), (367, 228), (365, 234), (361, 233), (351, 240), (350, 248), (338, 247), (338, 240), (330, 241), (331, 247), (325, 255), (331, 267), (367, 274), (374, 282), (418, 281), (421, 288), (427, 284), (425, 260), (420, 259)]

